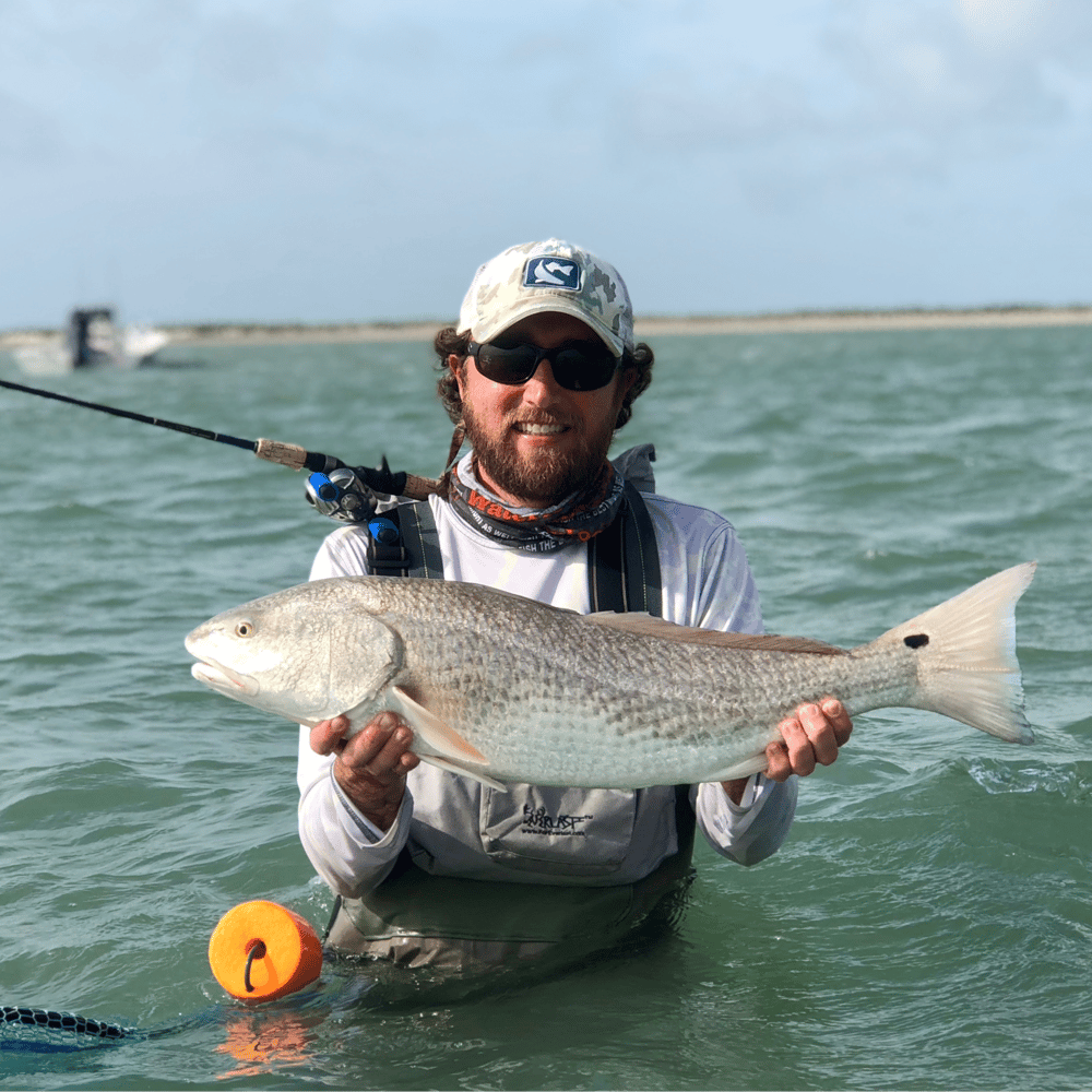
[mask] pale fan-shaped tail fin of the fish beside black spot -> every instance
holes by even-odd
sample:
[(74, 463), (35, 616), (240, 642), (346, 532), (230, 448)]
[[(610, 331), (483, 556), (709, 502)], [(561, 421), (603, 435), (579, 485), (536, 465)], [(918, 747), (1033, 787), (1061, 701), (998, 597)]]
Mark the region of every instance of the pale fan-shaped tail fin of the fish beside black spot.
[(1035, 741), (1024, 715), (1014, 618), (1034, 574), (1034, 561), (995, 573), (879, 639), (918, 651), (913, 704), (1009, 743)]

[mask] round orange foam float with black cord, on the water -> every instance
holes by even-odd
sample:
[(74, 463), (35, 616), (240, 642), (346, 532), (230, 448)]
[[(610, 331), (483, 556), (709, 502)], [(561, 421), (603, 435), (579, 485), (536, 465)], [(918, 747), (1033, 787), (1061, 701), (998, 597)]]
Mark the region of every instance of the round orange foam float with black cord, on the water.
[(258, 899), (219, 919), (209, 940), (209, 965), (233, 997), (272, 1001), (318, 978), (322, 942), (298, 914)]

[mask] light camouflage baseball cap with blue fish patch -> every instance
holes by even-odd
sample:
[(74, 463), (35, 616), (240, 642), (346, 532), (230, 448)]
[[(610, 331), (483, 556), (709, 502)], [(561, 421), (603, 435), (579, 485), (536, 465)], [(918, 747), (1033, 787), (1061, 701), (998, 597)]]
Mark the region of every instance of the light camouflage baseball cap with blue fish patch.
[(487, 342), (541, 311), (586, 322), (615, 356), (633, 348), (633, 308), (618, 271), (562, 239), (523, 242), (486, 262), (459, 311), (459, 333)]

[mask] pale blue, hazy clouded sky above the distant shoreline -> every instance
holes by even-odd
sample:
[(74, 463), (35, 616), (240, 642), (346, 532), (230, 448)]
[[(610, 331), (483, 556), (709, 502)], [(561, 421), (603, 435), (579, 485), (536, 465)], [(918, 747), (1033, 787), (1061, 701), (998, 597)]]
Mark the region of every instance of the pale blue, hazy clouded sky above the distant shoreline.
[(0, 0), (0, 330), (1092, 302), (1089, 0)]

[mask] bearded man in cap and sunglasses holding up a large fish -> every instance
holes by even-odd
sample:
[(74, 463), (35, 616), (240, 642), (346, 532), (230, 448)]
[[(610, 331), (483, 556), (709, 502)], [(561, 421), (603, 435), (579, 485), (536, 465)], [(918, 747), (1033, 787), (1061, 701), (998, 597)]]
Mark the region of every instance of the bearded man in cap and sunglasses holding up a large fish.
[[(456, 425), (453, 455), (463, 434), (471, 444), (447, 494), (428, 502), (444, 579), (587, 613), (600, 544), (616, 521), (636, 519), (626, 513), (644, 510), (640, 537), (658, 568), (649, 581), (658, 613), (680, 625), (760, 631), (731, 524), (637, 494), (607, 460), (653, 360), (633, 342), (629, 295), (613, 266), (558, 239), (512, 247), (478, 270), (458, 329), (436, 344), (441, 397)], [(639, 459), (629, 467), (642, 476)], [(312, 579), (367, 572), (367, 549), (361, 529), (335, 531)], [(300, 838), (344, 899), (330, 939), (460, 970), (575, 958), (609, 943), (687, 875), (696, 821), (724, 856), (747, 865), (769, 856), (792, 823), (793, 775), (833, 762), (852, 729), (843, 707), (827, 699), (779, 725), (764, 774), (634, 793), (500, 793), (420, 764), (411, 729), (393, 713), (348, 739), (347, 727), (337, 717), (300, 735)]]

